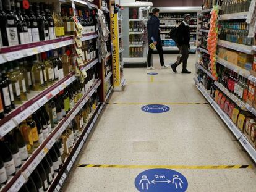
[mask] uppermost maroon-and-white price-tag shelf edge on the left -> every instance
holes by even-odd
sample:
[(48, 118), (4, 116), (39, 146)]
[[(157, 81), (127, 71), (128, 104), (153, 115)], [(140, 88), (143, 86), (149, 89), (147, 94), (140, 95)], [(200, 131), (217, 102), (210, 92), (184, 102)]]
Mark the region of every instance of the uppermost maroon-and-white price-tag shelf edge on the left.
[[(87, 35), (83, 35), (81, 40), (87, 41), (97, 37), (98, 35), (96, 33), (88, 33)], [(38, 41), (35, 43), (20, 44), (17, 46), (1, 48), (0, 64), (14, 61), (16, 59), (21, 59), (23, 57), (33, 56), (41, 52), (62, 48), (74, 43), (74, 36), (66, 36), (62, 38), (56, 38), (54, 40)]]

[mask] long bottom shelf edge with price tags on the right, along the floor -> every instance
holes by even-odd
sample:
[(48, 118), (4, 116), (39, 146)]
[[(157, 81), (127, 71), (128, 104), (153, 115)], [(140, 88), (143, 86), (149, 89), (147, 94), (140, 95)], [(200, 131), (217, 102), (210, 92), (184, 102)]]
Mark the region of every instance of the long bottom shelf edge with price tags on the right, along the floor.
[(250, 142), (247, 140), (247, 138), (245, 137), (245, 135), (243, 133), (241, 133), (241, 131), (239, 130), (239, 128), (236, 127), (236, 125), (234, 125), (234, 123), (232, 122), (232, 120), (228, 117), (228, 115), (226, 115), (223, 110), (220, 108), (220, 106), (218, 106), (218, 104), (213, 100), (213, 98), (211, 98), (211, 96), (207, 93), (207, 91), (205, 90), (205, 88), (203, 88), (202, 85), (200, 85), (197, 81), (196, 78), (194, 78), (195, 84), (198, 88), (198, 90), (203, 94), (203, 96), (207, 99), (207, 101), (211, 104), (211, 106), (213, 107), (213, 109), (215, 109), (216, 113), (221, 117), (221, 119), (223, 120), (223, 122), (228, 126), (228, 128), (232, 131), (232, 133), (234, 134), (234, 136), (236, 136), (237, 140), (242, 144), (242, 146), (244, 147), (244, 149), (248, 152), (248, 154), (250, 155), (250, 157), (252, 157), (252, 159), (254, 160), (254, 162), (256, 162), (256, 150), (254, 149), (254, 147), (252, 146), (252, 144), (250, 144)]

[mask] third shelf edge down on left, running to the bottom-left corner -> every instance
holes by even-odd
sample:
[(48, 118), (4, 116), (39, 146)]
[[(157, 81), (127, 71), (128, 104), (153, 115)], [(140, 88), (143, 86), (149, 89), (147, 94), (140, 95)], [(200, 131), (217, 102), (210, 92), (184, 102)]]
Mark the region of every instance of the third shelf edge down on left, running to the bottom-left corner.
[(36, 166), (41, 162), (43, 157), (47, 154), (49, 149), (56, 143), (56, 139), (66, 130), (69, 123), (75, 118), (80, 109), (86, 104), (88, 99), (95, 93), (95, 90), (100, 86), (101, 80), (96, 80), (92, 88), (83, 95), (83, 97), (75, 104), (69, 113), (58, 123), (52, 133), (43, 141), (42, 144), (33, 152), (32, 156), (22, 165), (19, 172), (9, 180), (3, 191), (19, 191), (22, 185), (26, 182), (25, 177), (28, 178)]

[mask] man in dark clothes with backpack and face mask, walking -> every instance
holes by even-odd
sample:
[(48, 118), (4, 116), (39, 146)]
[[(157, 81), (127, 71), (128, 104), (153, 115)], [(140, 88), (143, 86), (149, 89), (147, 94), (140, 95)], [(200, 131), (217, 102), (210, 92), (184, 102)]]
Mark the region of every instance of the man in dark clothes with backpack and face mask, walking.
[(174, 73), (177, 73), (177, 66), (182, 63), (182, 72), (190, 74), (191, 72), (187, 70), (187, 59), (189, 59), (189, 50), (190, 50), (190, 29), (189, 23), (191, 20), (190, 14), (184, 15), (183, 22), (177, 27), (177, 46), (181, 53), (181, 56), (177, 57), (177, 61), (174, 64), (171, 64), (171, 69), (173, 69)]

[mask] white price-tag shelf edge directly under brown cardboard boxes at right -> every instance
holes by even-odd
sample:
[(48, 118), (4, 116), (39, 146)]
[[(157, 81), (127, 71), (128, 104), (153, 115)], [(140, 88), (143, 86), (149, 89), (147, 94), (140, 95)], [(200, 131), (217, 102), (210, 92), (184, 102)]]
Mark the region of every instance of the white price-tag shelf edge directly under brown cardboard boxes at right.
[(256, 82), (256, 78), (253, 77), (252, 75), (250, 75), (250, 72), (248, 70), (242, 69), (241, 67), (234, 65), (231, 62), (228, 62), (224, 59), (221, 59), (220, 57), (217, 57), (216, 62), (218, 62), (218, 64), (221, 64), (230, 70), (233, 70), (234, 72), (238, 73), (239, 75), (242, 75), (242, 77), (250, 78), (250, 80)]

